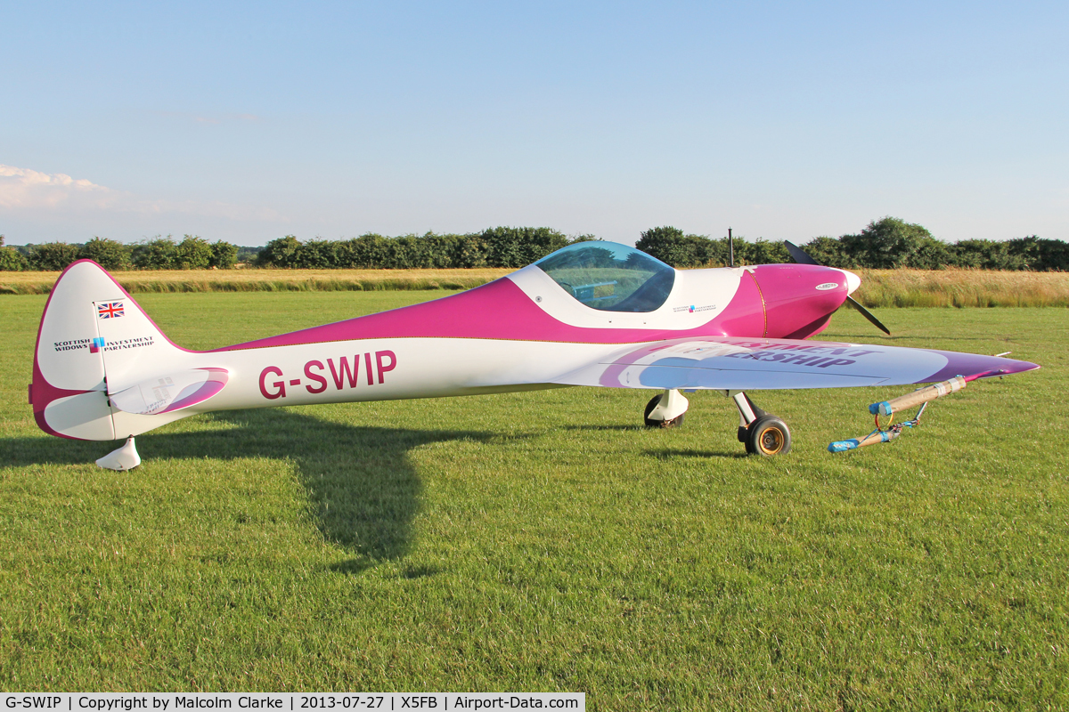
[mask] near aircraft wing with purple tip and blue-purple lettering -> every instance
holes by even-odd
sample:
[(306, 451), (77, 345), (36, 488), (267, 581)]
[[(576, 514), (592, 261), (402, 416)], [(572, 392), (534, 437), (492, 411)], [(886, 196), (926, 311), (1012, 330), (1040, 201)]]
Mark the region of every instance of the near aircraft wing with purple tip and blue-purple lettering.
[(617, 389), (760, 391), (932, 383), (1039, 368), (1000, 357), (869, 344), (707, 336), (633, 344), (552, 382)]

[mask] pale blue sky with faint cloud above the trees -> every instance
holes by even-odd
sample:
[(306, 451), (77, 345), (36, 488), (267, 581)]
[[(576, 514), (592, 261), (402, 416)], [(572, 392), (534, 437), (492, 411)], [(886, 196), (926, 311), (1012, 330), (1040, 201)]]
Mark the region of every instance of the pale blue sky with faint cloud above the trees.
[(5, 3), (0, 234), (1069, 238), (1067, 3)]

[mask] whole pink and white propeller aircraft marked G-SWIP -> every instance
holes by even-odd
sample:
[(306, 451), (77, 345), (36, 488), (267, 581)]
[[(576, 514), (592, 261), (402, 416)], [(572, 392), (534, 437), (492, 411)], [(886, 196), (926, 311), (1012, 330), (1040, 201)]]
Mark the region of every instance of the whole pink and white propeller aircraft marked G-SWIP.
[(190, 351), (170, 342), (99, 265), (83, 259), (64, 270), (45, 306), (30, 402), (45, 432), (126, 439), (97, 460), (113, 470), (140, 463), (134, 436), (197, 413), (569, 385), (659, 391), (646, 408), (649, 426), (681, 422), (687, 409), (681, 391), (718, 391), (739, 409), (747, 452), (775, 455), (790, 449), (790, 431), (747, 391), (954, 377), (963, 377), (963, 385), (1038, 367), (972, 353), (803, 341), (853, 301), (859, 283), (852, 272), (816, 264), (680, 271), (634, 248), (579, 242), (443, 299)]

